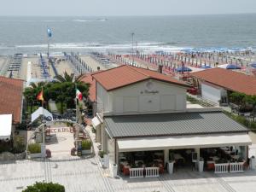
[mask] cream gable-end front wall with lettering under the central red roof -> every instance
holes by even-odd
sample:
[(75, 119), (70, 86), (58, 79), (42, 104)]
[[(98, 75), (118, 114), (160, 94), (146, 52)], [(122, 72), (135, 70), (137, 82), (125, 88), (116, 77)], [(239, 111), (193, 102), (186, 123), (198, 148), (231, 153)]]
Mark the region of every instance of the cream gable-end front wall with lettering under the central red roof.
[[(148, 82), (150, 89), (148, 88)], [(149, 91), (149, 92), (148, 92)], [(150, 92), (151, 91), (151, 92)], [(111, 91), (113, 113), (184, 111), (186, 89), (176, 84), (146, 80)]]

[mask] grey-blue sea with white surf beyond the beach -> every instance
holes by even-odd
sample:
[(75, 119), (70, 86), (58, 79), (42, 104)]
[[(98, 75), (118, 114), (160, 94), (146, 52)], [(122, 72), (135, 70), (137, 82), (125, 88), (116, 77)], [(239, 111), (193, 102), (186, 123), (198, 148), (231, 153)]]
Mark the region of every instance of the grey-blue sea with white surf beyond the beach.
[(142, 52), (256, 50), (256, 14), (0, 17), (0, 55), (46, 53), (48, 43), (50, 55), (124, 53), (132, 42)]

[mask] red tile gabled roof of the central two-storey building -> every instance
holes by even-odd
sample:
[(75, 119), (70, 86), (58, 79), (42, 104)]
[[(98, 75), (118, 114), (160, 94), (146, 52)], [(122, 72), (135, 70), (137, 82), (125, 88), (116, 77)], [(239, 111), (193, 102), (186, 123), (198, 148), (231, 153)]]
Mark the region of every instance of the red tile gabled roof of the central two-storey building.
[(165, 74), (151, 71), (149, 69), (131, 67), (127, 65), (115, 67), (100, 73), (93, 74), (92, 77), (96, 79), (98, 83), (102, 84), (106, 90), (115, 90), (146, 79), (156, 79), (170, 84), (189, 87), (188, 84), (185, 84), (177, 79), (173, 79), (170, 76), (166, 76)]

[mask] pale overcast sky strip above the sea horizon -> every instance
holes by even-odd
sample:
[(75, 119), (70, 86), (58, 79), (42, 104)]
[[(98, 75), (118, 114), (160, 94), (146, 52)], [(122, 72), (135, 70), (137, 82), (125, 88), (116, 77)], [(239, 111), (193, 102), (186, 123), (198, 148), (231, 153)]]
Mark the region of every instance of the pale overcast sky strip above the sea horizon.
[(1, 0), (0, 15), (108, 16), (256, 13), (256, 0)]

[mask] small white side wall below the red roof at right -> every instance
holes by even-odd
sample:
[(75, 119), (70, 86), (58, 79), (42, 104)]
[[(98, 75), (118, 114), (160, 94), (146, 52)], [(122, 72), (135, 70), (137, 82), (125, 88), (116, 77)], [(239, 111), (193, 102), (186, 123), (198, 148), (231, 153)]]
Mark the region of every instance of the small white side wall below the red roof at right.
[(201, 83), (201, 96), (207, 100), (218, 103), (222, 96), (222, 89), (215, 85)]

